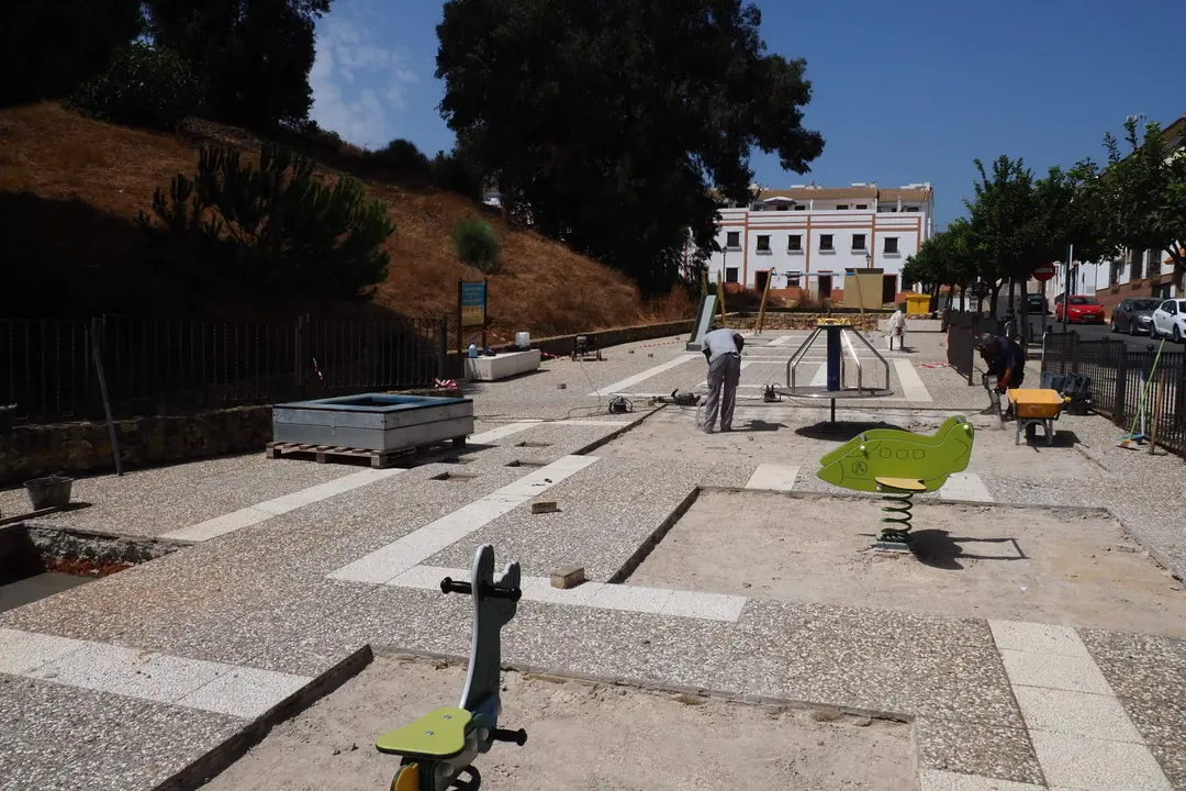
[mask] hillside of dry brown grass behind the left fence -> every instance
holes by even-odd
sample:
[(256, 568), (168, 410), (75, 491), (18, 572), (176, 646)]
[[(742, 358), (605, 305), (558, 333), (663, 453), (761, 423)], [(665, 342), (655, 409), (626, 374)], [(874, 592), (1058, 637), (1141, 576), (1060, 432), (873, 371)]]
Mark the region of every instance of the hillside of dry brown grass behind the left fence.
[[(205, 122), (173, 136), (91, 121), (57, 104), (0, 110), (0, 266), (12, 267), (9, 274), (23, 269), (26, 287), (33, 282), (32, 295), (18, 305), (7, 300), (5, 313), (171, 310), (246, 318), (291, 311), (235, 294), (217, 305), (183, 305), (184, 289), (160, 274), (144, 244), (138, 211), (176, 173), (192, 173), (196, 149), (208, 141), (256, 145), (242, 130)], [(366, 186), (396, 224), (387, 243), (390, 274), (375, 298), (381, 308), (453, 315), (465, 267), (453, 253), (452, 230), (463, 217), (482, 215), (502, 245), (502, 272), (490, 286), (499, 334), (530, 330), (542, 337), (687, 314), (687, 301), (675, 295), (644, 306), (629, 279), (454, 193)]]

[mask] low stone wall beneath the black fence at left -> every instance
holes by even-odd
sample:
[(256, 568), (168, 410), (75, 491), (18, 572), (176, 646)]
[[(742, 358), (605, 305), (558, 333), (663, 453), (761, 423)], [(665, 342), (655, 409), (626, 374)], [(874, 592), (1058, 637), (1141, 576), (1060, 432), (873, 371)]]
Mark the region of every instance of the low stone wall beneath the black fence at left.
[[(272, 407), (240, 407), (198, 415), (119, 420), (125, 470), (262, 451), (272, 440)], [(114, 472), (106, 422), (17, 426), (0, 434), (0, 484), (62, 472)]]

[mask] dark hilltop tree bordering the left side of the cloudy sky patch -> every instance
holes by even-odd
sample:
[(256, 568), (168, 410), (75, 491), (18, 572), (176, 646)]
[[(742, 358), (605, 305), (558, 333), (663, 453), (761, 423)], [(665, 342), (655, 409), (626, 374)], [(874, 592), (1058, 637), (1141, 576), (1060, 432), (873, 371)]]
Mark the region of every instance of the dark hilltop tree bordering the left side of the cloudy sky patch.
[(153, 42), (193, 64), (209, 117), (298, 126), (313, 91), (314, 24), (330, 0), (146, 0)]

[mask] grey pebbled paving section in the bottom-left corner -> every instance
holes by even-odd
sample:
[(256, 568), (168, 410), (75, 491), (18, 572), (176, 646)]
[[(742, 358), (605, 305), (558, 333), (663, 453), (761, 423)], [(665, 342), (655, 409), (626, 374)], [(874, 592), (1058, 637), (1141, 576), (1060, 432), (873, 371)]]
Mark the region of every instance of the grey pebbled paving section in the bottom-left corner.
[(43, 681), (0, 676), (0, 789), (157, 787), (247, 722)]

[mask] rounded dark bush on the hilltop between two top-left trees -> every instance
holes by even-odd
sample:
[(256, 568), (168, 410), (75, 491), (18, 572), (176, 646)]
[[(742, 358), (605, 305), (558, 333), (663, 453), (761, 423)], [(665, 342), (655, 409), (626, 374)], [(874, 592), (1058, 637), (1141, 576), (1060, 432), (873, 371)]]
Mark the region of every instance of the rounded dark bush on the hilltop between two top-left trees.
[(133, 42), (69, 101), (88, 115), (130, 127), (174, 132), (200, 104), (190, 64), (177, 52)]

